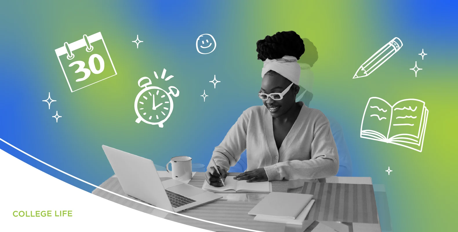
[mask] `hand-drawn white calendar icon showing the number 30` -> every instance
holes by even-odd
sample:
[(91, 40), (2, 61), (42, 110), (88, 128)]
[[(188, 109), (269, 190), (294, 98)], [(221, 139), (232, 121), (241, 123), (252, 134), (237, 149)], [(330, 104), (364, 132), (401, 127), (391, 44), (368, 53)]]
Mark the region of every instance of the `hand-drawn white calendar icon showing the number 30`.
[(71, 92), (116, 75), (102, 33), (83, 38), (55, 50)]

